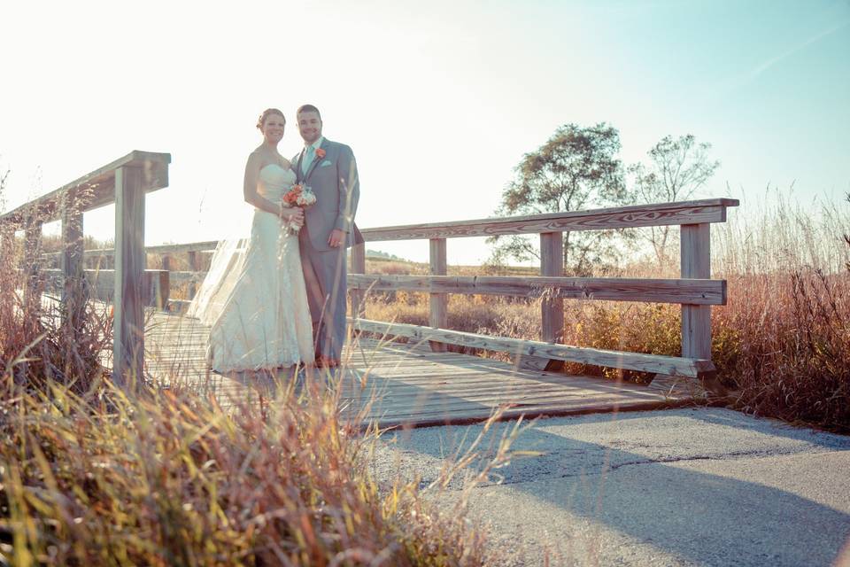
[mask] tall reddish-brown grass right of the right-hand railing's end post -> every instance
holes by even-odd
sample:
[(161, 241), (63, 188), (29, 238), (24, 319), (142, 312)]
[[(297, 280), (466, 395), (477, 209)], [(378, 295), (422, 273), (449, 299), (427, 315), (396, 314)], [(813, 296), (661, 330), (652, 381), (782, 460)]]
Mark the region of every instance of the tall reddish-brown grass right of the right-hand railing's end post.
[(730, 289), (713, 316), (730, 338), (726, 379), (746, 411), (850, 431), (850, 195), (766, 200), (715, 233), (715, 274)]

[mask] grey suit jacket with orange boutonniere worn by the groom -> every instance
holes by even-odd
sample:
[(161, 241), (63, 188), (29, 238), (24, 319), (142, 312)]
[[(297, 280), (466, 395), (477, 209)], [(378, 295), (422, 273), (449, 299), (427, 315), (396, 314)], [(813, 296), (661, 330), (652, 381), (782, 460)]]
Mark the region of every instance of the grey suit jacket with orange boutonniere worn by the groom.
[(328, 246), (330, 231), (340, 229), (346, 233), (346, 248), (352, 244), (361, 244), (363, 236), (354, 224), (360, 197), (354, 153), (347, 145), (331, 142), (328, 138), (321, 141), (320, 147), (325, 151), (324, 157), (314, 156), (305, 173), (301, 172), (305, 150), (302, 149), (292, 158), (298, 183), (309, 185), (316, 194), (315, 204), (305, 209), (307, 229), (302, 230), (299, 237), (306, 238), (306, 233), (314, 249), (329, 251), (333, 250)]

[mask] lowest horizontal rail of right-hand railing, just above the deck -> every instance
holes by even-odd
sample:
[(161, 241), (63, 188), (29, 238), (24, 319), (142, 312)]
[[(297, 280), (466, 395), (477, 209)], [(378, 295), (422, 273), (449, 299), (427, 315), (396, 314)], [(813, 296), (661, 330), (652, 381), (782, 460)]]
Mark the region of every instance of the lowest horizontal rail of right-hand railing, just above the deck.
[(709, 377), (715, 372), (715, 365), (712, 361), (700, 359), (662, 356), (661, 354), (622, 353), (596, 348), (556, 345), (520, 338), (489, 337), (460, 330), (432, 329), (420, 325), (367, 319), (349, 319), (349, 322), (354, 330), (375, 333), (386, 338), (406, 337), (420, 341), (439, 341), (452, 345), (510, 353), (514, 356), (535, 356), (556, 361), (578, 362), (608, 368), (694, 378)]

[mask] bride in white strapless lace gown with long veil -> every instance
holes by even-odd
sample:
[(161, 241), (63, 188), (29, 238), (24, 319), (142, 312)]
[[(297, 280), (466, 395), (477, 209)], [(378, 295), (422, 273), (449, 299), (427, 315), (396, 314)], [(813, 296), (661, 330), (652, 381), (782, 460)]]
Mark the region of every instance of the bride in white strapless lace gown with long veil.
[(289, 160), (277, 151), (286, 119), (263, 112), (257, 128), (263, 143), (245, 166), (244, 198), (254, 206), (251, 236), (223, 240), (188, 315), (210, 325), (207, 357), (222, 373), (277, 369), (312, 363), (313, 322), (298, 252), (304, 210), (283, 206), (296, 181)]

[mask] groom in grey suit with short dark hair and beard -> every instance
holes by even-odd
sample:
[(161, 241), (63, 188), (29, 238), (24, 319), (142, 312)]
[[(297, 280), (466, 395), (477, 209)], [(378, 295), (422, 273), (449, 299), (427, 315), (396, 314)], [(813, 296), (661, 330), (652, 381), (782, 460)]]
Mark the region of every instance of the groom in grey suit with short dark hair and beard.
[(306, 208), (305, 224), (298, 233), (316, 363), (334, 368), (345, 341), (346, 249), (363, 242), (354, 225), (360, 194), (357, 164), (350, 147), (321, 136), (318, 108), (303, 105), (296, 119), (304, 149), (292, 164), (298, 183), (310, 186), (316, 194), (316, 203)]

